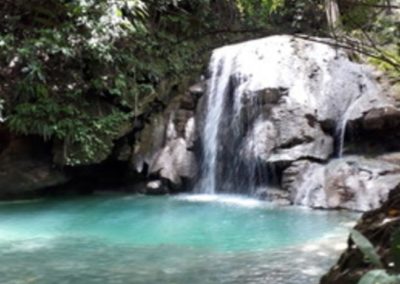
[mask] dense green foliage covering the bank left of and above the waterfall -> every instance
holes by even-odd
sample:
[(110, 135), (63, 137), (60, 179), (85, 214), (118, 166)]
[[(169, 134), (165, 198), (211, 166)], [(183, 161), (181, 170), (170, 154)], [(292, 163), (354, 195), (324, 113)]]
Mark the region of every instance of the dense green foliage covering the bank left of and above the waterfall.
[[(393, 21), (367, 17), (375, 7), (356, 2), (340, 1), (348, 34), (370, 31), (391, 46), (380, 55), (398, 58)], [(198, 76), (212, 48), (277, 33), (325, 35), (325, 26), (323, 0), (3, 0), (0, 119), (63, 145), (64, 164), (90, 164), (184, 77)]]

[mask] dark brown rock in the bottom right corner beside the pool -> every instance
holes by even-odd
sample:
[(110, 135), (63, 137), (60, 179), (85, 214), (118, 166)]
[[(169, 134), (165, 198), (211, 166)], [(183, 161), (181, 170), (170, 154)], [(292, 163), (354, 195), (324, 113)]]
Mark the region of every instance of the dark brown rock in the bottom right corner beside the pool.
[[(390, 265), (394, 258), (391, 249), (392, 238), (400, 228), (400, 187), (390, 192), (388, 201), (377, 210), (367, 212), (356, 225), (376, 248), (381, 256), (384, 268), (389, 272), (400, 271), (400, 267)], [(398, 262), (397, 262), (398, 263)], [(363, 274), (374, 269), (361, 251), (349, 239), (348, 248), (338, 263), (321, 279), (321, 284), (354, 284)]]

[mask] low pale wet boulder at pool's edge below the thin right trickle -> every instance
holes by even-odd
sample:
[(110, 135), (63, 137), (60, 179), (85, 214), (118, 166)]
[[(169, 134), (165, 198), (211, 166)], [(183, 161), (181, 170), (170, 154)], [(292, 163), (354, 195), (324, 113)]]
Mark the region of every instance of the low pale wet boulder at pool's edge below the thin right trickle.
[(333, 160), (327, 165), (300, 161), (283, 176), (283, 185), (295, 204), (367, 211), (378, 208), (400, 184), (400, 166), (361, 157)]

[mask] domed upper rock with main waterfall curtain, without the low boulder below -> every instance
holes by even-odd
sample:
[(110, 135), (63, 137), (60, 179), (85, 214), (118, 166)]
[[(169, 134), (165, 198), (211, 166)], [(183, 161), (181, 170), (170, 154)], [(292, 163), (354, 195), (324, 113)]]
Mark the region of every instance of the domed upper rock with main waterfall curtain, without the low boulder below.
[(341, 157), (348, 121), (387, 104), (371, 70), (344, 51), (290, 36), (216, 49), (209, 74), (198, 193), (268, 197), (274, 167), (282, 186), (295, 161)]

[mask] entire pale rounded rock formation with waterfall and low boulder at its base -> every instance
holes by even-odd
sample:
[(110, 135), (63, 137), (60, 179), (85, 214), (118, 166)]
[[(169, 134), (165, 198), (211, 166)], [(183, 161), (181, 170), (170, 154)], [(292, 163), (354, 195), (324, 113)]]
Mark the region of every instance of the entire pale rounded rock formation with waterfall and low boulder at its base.
[(257, 194), (274, 168), (294, 204), (365, 211), (400, 183), (398, 165), (373, 157), (399, 151), (396, 135), (374, 142), (384, 145), (379, 153), (332, 160), (351, 153), (349, 130), (360, 144), (376, 131), (397, 133), (400, 111), (380, 75), (320, 41), (273, 36), (214, 51), (204, 115), (196, 116), (204, 192)]

